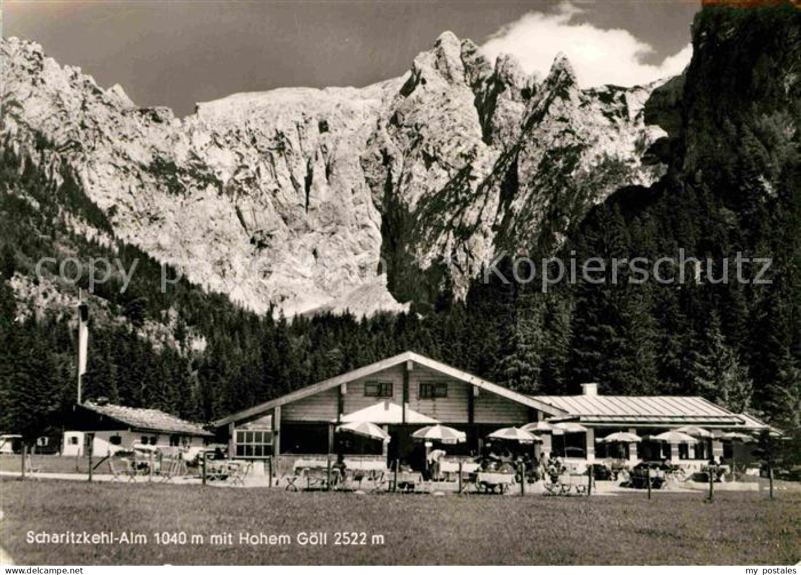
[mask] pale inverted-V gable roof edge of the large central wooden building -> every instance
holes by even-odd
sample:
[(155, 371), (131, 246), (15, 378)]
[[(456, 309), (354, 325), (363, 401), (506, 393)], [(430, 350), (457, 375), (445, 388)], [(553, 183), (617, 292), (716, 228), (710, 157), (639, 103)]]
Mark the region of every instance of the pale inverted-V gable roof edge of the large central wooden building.
[(420, 355), (419, 353), (414, 353), (412, 351), (406, 351), (404, 353), (399, 353), (396, 356), (388, 357), (387, 359), (376, 361), (371, 365), (365, 365), (364, 367), (360, 367), (359, 369), (354, 369), (348, 373), (343, 373), (342, 375), (338, 375), (336, 377), (332, 377), (331, 379), (326, 379), (324, 381), (320, 381), (319, 383), (315, 383), (313, 385), (308, 385), (303, 389), (298, 389), (297, 391), (293, 391), (292, 393), (288, 393), (282, 397), (277, 397), (272, 401), (266, 401), (260, 405), (254, 405), (251, 408), (244, 409), (237, 413), (232, 413), (227, 417), (223, 417), (218, 421), (215, 421), (214, 425), (222, 426), (232, 423), (234, 421), (239, 421), (242, 419), (248, 419), (249, 417), (255, 417), (268, 411), (269, 409), (274, 409), (279, 407), (280, 405), (285, 405), (287, 403), (292, 403), (292, 401), (298, 401), (300, 399), (304, 399), (305, 397), (310, 397), (312, 395), (316, 395), (317, 393), (323, 392), (327, 389), (332, 389), (337, 385), (342, 385), (343, 383), (348, 383), (348, 381), (355, 381), (356, 379), (360, 379), (360, 377), (367, 377), (372, 375), (373, 373), (378, 373), (383, 371), (384, 369), (388, 369), (395, 365), (400, 365), (405, 361), (413, 361), (418, 365), (423, 365), (428, 367), (429, 369), (433, 369), (434, 371), (438, 371), (447, 375), (449, 377), (453, 377), (458, 381), (464, 381), (465, 383), (469, 383), (470, 385), (475, 385), (480, 389), (485, 389), (490, 393), (495, 393), (496, 395), (500, 395), (501, 397), (505, 397), (510, 401), (517, 401), (522, 405), (526, 405), (533, 409), (539, 409), (544, 413), (548, 413), (549, 415), (562, 415), (565, 412), (554, 405), (550, 405), (544, 403), (543, 401), (538, 400), (535, 397), (529, 397), (527, 395), (523, 395), (522, 393), (517, 393), (516, 391), (512, 391), (511, 389), (506, 389), (505, 387), (501, 387), (500, 385), (495, 385), (494, 383), (490, 383), (489, 381), (485, 381), (481, 379), (481, 377), (476, 377), (471, 375), (470, 373), (466, 373), (461, 371), (460, 369), (456, 369), (451, 367), (450, 365), (445, 365), (441, 363), (441, 361), (436, 361), (431, 359), (430, 357), (425, 357)]

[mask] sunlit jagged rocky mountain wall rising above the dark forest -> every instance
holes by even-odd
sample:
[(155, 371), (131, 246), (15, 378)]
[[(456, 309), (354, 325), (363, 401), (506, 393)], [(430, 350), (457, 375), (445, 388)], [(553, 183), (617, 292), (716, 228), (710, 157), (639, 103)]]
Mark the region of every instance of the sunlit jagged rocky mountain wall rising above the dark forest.
[(405, 309), (463, 295), (500, 250), (553, 246), (664, 135), (654, 86), (580, 90), (445, 33), (365, 88), (234, 94), (175, 118), (40, 46), (0, 43), (6, 145), (71, 170), (115, 235), (264, 311)]

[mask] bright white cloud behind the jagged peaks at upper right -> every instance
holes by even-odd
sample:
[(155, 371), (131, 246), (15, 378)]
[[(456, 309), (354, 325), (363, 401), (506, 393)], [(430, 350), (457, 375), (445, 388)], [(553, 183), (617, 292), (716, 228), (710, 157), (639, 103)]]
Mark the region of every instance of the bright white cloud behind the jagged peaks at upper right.
[(529, 12), (498, 30), (481, 47), (494, 61), (498, 54), (513, 54), (526, 72), (547, 74), (558, 52), (573, 65), (582, 87), (617, 84), (634, 86), (681, 74), (692, 56), (688, 44), (657, 66), (642, 58), (654, 48), (627, 30), (603, 30), (592, 24), (572, 23), (582, 10), (570, 2), (557, 14)]

